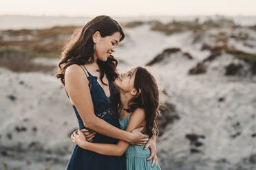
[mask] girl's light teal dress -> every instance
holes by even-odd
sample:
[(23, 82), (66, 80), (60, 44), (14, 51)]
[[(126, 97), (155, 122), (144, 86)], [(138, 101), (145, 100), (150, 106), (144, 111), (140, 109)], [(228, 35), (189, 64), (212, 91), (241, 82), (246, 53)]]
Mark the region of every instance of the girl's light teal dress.
[[(131, 114), (124, 120), (119, 119), (120, 129), (125, 130)], [(145, 146), (139, 145), (129, 145), (127, 150), (125, 151), (126, 154), (126, 166), (127, 170), (161, 170), (159, 165), (153, 165), (151, 167), (152, 160), (146, 160), (150, 156), (150, 149), (143, 149)]]

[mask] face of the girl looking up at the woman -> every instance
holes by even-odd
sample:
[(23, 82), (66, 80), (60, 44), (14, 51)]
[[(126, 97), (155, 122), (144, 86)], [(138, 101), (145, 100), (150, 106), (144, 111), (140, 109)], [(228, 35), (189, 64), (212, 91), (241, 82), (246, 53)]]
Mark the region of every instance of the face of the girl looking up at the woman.
[(115, 84), (120, 89), (120, 93), (131, 93), (131, 95), (134, 95), (134, 92), (137, 91), (134, 88), (136, 71), (137, 69), (134, 67), (125, 73), (121, 73), (120, 76), (115, 80)]

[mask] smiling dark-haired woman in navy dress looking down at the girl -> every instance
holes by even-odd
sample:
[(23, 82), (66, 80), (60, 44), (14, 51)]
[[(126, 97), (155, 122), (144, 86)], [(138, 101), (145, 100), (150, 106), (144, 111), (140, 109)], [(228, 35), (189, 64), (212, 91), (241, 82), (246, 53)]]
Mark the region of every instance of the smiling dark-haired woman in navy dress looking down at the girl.
[[(56, 77), (67, 90), (79, 129), (98, 132), (94, 143), (114, 144), (118, 139), (140, 145), (147, 142), (148, 136), (140, 129), (133, 133), (119, 129), (116, 92), (111, 83), (118, 77), (117, 60), (111, 53), (123, 38), (125, 34), (116, 21), (97, 16), (74, 32), (58, 64)], [(154, 138), (149, 141), (153, 147)], [(104, 156), (76, 145), (67, 169), (124, 169), (122, 166), (120, 156)]]

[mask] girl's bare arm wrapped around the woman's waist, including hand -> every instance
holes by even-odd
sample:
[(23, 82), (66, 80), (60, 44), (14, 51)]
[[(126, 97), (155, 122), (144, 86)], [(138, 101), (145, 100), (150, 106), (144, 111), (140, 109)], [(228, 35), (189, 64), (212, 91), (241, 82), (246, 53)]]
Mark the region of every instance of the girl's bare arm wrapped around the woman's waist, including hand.
[[(141, 108), (136, 109), (131, 114), (126, 131), (131, 132), (137, 127), (140, 127), (144, 121), (145, 110)], [(110, 156), (122, 156), (122, 154), (125, 153), (125, 150), (129, 146), (129, 143), (125, 141), (119, 141), (117, 144), (90, 143), (86, 141), (86, 138), (81, 130), (78, 130), (78, 134), (73, 134), (72, 141), (83, 149)]]

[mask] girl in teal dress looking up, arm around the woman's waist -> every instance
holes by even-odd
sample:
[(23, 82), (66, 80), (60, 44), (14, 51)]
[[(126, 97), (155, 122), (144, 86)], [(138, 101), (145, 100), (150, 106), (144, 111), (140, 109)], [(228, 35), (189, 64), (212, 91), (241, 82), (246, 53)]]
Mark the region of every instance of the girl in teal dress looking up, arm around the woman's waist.
[[(154, 77), (143, 67), (136, 67), (125, 74), (121, 74), (115, 81), (120, 93), (118, 106), (120, 127), (131, 132), (143, 126), (145, 134), (156, 136), (158, 127), (156, 117), (159, 112), (159, 90)], [(78, 130), (72, 134), (72, 141), (83, 149), (95, 151), (98, 154), (122, 156), (125, 152), (127, 170), (158, 169), (159, 165), (151, 167), (151, 161), (146, 158), (150, 155), (149, 149), (142, 146), (129, 145), (125, 141), (117, 144), (90, 143), (83, 132)]]

